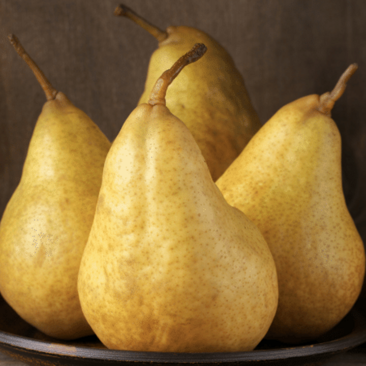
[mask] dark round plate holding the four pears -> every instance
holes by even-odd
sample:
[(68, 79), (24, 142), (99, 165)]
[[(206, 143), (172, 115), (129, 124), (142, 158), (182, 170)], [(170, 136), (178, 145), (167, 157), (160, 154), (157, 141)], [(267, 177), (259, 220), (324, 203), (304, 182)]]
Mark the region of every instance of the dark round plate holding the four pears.
[(315, 365), (330, 355), (366, 342), (366, 312), (354, 307), (335, 328), (313, 344), (290, 346), (262, 341), (254, 351), (231, 353), (160, 353), (105, 348), (97, 337), (64, 342), (47, 337), (24, 322), (0, 297), (0, 351), (34, 365), (168, 364)]

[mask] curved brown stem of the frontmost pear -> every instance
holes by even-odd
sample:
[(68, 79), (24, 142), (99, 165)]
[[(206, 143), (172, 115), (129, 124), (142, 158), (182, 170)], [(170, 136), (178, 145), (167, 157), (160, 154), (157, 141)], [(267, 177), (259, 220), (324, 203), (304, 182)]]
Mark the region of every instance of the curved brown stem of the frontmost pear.
[(164, 71), (157, 80), (153, 90), (151, 90), (151, 94), (147, 103), (152, 106), (157, 104), (166, 105), (165, 96), (168, 86), (178, 76), (184, 67), (200, 59), (206, 51), (207, 47), (203, 43), (196, 43), (189, 52), (181, 56), (177, 62), (169, 70)]

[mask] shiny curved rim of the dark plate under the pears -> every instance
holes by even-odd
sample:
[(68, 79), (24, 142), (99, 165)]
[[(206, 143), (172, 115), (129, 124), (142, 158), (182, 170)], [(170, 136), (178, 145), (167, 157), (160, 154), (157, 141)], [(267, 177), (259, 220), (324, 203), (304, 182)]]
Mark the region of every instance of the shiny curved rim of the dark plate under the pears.
[[(259, 349), (238, 352), (142, 352), (124, 351), (104, 348), (94, 348), (82, 345), (65, 345), (52, 341), (37, 340), (24, 335), (17, 335), (0, 330), (0, 351), (2, 348), (9, 350), (44, 354), (44, 356), (57, 355), (73, 359), (94, 359), (120, 362), (149, 362), (149, 363), (227, 363), (248, 362), (264, 360), (285, 360), (291, 358), (312, 357), (322, 354), (342, 352), (359, 346), (366, 342), (366, 314), (355, 307), (348, 313), (354, 320), (351, 333), (339, 339), (321, 342), (312, 345), (290, 346), (279, 349)], [(357, 322), (361, 320), (361, 324)], [(363, 326), (362, 326), (363, 325)], [(356, 340), (354, 340), (356, 337)], [(311, 350), (311, 352), (309, 352)]]

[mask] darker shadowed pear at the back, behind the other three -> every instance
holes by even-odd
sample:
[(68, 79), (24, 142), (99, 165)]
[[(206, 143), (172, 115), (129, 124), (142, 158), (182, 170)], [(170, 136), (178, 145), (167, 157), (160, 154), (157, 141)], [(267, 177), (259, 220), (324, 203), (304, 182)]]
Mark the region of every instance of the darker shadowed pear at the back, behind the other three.
[(169, 87), (166, 105), (191, 131), (217, 180), (262, 126), (233, 59), (216, 40), (196, 28), (169, 26), (161, 31), (125, 5), (119, 5), (115, 15), (132, 19), (159, 41), (139, 104), (147, 103), (156, 80), (192, 45), (207, 46), (199, 64), (183, 70)]

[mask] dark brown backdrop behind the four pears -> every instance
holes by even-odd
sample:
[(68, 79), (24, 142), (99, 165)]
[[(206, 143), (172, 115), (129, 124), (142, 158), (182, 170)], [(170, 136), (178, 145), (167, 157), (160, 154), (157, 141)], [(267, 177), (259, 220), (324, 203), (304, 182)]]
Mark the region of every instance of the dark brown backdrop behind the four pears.
[[(7, 35), (113, 140), (142, 93), (157, 42), (118, 0), (0, 0), (0, 215), (18, 184), (44, 94)], [(201, 28), (224, 45), (262, 123), (284, 104), (330, 90), (359, 69), (333, 109), (343, 137), (344, 190), (366, 241), (364, 0), (125, 0), (151, 22)]]

